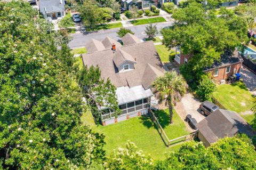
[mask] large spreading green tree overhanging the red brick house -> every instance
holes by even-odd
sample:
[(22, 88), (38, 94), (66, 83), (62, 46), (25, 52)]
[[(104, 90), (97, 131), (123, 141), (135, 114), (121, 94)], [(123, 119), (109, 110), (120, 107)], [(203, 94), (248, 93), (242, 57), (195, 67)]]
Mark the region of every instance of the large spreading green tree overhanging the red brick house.
[(186, 67), (197, 82), (202, 70), (219, 60), (225, 50), (234, 51), (249, 41), (245, 19), (225, 9), (220, 14), (217, 17), (214, 9), (206, 11), (202, 4), (191, 2), (175, 10), (173, 26), (161, 31), (167, 47), (179, 47), (183, 54), (193, 55)]

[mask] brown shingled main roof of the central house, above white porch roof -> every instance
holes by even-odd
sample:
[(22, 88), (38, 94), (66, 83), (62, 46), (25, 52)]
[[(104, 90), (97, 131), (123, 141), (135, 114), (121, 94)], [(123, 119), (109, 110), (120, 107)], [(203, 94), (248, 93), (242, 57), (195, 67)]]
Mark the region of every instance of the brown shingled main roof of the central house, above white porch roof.
[[(102, 78), (110, 78), (116, 87), (139, 86), (149, 88), (155, 78), (163, 75), (163, 66), (153, 41), (120, 46), (116, 52), (106, 49), (82, 54), (87, 66), (99, 66)], [(123, 58), (123, 59), (122, 59)], [(118, 72), (117, 66), (125, 59), (134, 64), (134, 69)]]

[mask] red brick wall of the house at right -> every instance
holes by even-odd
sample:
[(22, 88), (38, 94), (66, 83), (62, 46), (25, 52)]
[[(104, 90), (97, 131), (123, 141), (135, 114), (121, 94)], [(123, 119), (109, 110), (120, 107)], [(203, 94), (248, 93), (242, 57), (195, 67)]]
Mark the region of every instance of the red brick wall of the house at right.
[[(229, 65), (230, 66), (230, 65)], [(236, 74), (237, 72), (239, 73), (240, 72), (240, 69), (241, 69), (241, 66), (242, 66), (242, 63), (236, 63), (236, 64), (232, 64), (231, 65), (231, 68), (230, 68), (230, 72), (226, 74), (226, 71), (227, 71), (227, 67), (228, 66), (225, 66), (225, 67), (221, 67), (219, 68), (219, 73), (218, 73), (218, 76), (215, 76), (213, 77), (215, 80), (217, 81), (220, 81), (220, 80), (223, 80), (223, 79), (228, 79), (229, 76), (231, 76), (232, 74)], [(236, 71), (234, 72), (234, 68), (236, 68)], [(211, 69), (211, 70), (207, 70), (205, 72), (211, 72), (212, 75), (214, 74), (214, 70), (215, 69)]]

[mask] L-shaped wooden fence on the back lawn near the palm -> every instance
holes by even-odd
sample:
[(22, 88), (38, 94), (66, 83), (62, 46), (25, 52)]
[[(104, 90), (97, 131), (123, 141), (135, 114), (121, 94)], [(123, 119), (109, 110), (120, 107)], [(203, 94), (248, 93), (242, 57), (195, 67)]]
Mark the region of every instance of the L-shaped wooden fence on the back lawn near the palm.
[(193, 140), (195, 137), (197, 137), (197, 131), (195, 131), (193, 133), (190, 133), (189, 135), (180, 136), (175, 139), (169, 140), (166, 133), (164, 132), (164, 129), (159, 124), (154, 112), (151, 109), (149, 109), (149, 115), (150, 115), (152, 121), (154, 122), (154, 124), (156, 125), (157, 131), (161, 135), (161, 137), (167, 147), (172, 147), (174, 145)]

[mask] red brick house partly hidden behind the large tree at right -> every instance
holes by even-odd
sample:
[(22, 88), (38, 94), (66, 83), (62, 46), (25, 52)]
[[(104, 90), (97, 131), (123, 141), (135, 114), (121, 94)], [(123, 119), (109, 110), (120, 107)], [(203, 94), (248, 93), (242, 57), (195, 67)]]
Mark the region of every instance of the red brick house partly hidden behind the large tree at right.
[[(187, 63), (191, 57), (193, 57), (193, 55), (182, 54), (179, 48), (177, 48), (174, 62), (180, 66), (181, 64)], [(238, 56), (237, 51), (234, 53), (226, 51), (221, 54), (219, 61), (215, 61), (211, 67), (205, 68), (204, 72), (211, 72), (213, 78), (217, 81), (227, 80), (231, 75), (240, 72), (242, 63), (243, 59)]]

